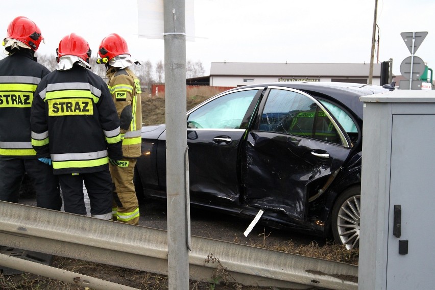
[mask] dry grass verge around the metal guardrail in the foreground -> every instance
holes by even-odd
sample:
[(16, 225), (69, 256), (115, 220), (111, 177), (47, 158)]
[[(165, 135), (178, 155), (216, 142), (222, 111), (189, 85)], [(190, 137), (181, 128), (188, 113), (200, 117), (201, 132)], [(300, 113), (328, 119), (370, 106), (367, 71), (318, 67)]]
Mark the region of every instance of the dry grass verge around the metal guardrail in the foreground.
[[(252, 243), (251, 246), (267, 248), (274, 251), (298, 254), (308, 257), (321, 258), (332, 261), (339, 261), (358, 265), (358, 249), (346, 250), (344, 246), (328, 243), (324, 246), (319, 246), (315, 242), (309, 245), (295, 246), (292, 241), (286, 241), (281, 244), (270, 245), (267, 243), (269, 234), (263, 232), (260, 235), (264, 240), (261, 244)], [(237, 243), (237, 236), (234, 242)], [(204, 259), (205, 264), (214, 264), (215, 270), (208, 282), (193, 281), (189, 283), (190, 290), (272, 290), (274, 287), (254, 287), (241, 285), (231, 274), (226, 270), (225, 264), (222, 264), (219, 257), (215, 257), (210, 253)], [(53, 267), (75, 272), (82, 275), (87, 275), (106, 281), (143, 289), (143, 290), (166, 290), (168, 289), (167, 276), (153, 274), (127, 268), (119, 268), (101, 263), (94, 263), (78, 259), (65, 258), (55, 256)], [(88, 288), (73, 285), (64, 281), (50, 279), (34, 274), (24, 273), (18, 275), (4, 276), (0, 275), (0, 289), (12, 290), (88, 290)], [(284, 290), (280, 288), (280, 290)]]

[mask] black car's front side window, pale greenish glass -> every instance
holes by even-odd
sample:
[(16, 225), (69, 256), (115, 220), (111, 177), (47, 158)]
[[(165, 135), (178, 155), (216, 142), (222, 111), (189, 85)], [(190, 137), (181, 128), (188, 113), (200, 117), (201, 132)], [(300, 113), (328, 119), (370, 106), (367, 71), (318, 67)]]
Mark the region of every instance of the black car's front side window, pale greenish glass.
[(238, 91), (211, 100), (190, 113), (188, 128), (238, 129), (258, 89)]

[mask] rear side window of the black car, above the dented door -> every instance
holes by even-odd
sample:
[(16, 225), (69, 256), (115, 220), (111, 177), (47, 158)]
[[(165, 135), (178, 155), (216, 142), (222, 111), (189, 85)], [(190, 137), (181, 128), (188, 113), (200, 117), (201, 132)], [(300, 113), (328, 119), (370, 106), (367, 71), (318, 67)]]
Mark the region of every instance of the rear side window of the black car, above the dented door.
[(259, 130), (342, 144), (334, 124), (315, 101), (294, 91), (272, 89)]

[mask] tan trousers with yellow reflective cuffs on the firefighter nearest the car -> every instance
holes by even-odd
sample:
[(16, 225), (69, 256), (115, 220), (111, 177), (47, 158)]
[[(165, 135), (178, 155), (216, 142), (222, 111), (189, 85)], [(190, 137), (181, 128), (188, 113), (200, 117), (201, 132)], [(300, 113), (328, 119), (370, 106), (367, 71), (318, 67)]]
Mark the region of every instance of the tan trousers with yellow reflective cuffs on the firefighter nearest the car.
[(136, 159), (124, 158), (118, 166), (109, 165), (115, 185), (113, 193), (113, 219), (118, 222), (137, 225), (139, 223), (139, 203), (134, 190), (133, 172)]

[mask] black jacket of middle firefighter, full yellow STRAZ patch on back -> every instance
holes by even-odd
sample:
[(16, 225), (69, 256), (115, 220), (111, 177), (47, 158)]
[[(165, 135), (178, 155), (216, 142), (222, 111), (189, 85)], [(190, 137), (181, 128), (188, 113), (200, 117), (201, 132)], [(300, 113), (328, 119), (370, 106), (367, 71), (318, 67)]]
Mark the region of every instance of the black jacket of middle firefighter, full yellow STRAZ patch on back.
[(74, 65), (39, 83), (32, 103), (32, 145), (51, 156), (55, 174), (99, 172), (122, 159), (119, 119), (103, 79)]

